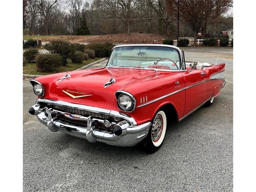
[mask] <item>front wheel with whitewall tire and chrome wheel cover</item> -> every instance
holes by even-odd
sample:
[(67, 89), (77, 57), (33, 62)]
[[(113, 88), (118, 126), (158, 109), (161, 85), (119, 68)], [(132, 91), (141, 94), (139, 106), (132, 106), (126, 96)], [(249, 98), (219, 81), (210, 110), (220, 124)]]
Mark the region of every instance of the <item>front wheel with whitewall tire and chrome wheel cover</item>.
[(156, 152), (163, 144), (167, 127), (167, 118), (163, 110), (159, 110), (145, 138), (144, 149), (149, 153)]

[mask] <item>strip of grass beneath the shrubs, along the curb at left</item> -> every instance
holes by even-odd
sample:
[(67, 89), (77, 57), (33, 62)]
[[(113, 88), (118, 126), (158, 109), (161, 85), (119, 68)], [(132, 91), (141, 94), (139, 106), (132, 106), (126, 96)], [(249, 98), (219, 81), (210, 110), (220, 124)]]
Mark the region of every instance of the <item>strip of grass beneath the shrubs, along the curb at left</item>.
[(60, 73), (60, 72), (68, 72), (68, 71), (73, 71), (76, 70), (82, 66), (88, 65), (92, 62), (98, 61), (102, 58), (95, 58), (95, 59), (89, 59), (85, 60), (82, 63), (72, 63), (68, 62), (66, 66), (60, 66), (56, 71), (53, 72), (38, 72), (36, 63), (26, 63), (23, 66), (23, 74), (29, 74), (29, 75), (48, 75), (48, 74), (53, 74), (53, 73)]

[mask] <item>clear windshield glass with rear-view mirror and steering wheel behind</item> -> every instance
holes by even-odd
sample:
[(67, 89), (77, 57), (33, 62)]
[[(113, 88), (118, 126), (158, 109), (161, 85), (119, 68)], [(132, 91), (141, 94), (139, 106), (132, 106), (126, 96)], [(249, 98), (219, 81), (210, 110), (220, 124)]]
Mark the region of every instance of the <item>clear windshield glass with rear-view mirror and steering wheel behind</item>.
[(127, 46), (114, 48), (107, 64), (107, 67), (111, 66), (179, 70), (181, 62), (174, 48)]

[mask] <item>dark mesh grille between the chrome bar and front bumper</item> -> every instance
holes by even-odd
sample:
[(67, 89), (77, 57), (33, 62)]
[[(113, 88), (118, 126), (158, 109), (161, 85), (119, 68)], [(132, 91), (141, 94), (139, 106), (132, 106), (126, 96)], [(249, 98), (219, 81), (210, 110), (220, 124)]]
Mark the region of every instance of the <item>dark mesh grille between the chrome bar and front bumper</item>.
[(115, 117), (112, 116), (110, 114), (107, 113), (102, 113), (102, 112), (92, 112), (92, 111), (88, 111), (88, 110), (84, 110), (84, 109), (80, 109), (80, 108), (74, 108), (74, 107), (70, 107), (70, 106), (64, 106), (64, 105), (58, 105), (58, 104), (52, 104), (52, 103), (46, 103), (46, 106), (48, 108), (52, 108), (55, 110), (59, 110), (62, 112), (68, 112), (71, 114), (77, 114), (77, 115), (82, 115), (82, 116), (92, 116), (92, 118), (97, 118), (97, 119), (108, 119), (108, 118), (113, 118), (115, 122), (119, 122), (121, 120), (123, 120), (122, 118), (119, 117)]

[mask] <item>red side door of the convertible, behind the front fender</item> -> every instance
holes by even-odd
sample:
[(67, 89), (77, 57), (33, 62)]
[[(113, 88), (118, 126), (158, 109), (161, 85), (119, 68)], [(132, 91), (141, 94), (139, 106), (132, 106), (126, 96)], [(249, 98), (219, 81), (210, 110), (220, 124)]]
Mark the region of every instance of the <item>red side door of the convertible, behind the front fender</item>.
[(206, 99), (206, 72), (200, 69), (183, 72), (185, 82), (184, 116), (192, 112)]

